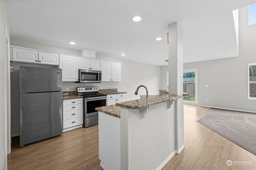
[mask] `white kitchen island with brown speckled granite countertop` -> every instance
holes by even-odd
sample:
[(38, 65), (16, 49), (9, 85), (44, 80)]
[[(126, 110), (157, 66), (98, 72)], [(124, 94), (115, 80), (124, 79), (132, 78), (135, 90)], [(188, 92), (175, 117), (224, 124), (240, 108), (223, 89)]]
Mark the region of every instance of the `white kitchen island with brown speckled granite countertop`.
[(161, 169), (177, 153), (176, 133), (183, 135), (175, 128), (174, 105), (182, 101), (182, 96), (166, 94), (96, 108), (100, 166), (105, 170)]

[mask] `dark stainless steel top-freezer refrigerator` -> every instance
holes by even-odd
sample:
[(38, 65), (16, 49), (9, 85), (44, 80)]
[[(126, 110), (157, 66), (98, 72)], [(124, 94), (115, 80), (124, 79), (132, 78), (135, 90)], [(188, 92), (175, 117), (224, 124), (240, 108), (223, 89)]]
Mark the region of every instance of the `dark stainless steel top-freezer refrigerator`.
[(20, 66), (20, 146), (62, 134), (62, 70)]

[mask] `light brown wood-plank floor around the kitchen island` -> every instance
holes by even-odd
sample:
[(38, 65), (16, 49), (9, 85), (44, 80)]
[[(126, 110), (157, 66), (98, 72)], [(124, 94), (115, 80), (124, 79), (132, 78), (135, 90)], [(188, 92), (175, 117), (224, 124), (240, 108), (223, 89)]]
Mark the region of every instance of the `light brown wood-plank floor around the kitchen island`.
[[(185, 149), (162, 170), (255, 170), (254, 154), (197, 122), (208, 109), (184, 105)], [(227, 166), (227, 160), (233, 164)], [(12, 138), (8, 170), (57, 169), (102, 170), (98, 159), (98, 125), (67, 131), (24, 147), (19, 147), (19, 137)]]

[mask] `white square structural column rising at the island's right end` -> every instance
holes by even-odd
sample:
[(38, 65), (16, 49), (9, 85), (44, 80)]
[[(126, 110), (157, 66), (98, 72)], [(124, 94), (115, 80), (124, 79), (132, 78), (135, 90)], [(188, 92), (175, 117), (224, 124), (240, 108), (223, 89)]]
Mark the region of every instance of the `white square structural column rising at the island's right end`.
[[(169, 32), (169, 94), (183, 95), (183, 27), (178, 23), (168, 25)], [(175, 149), (184, 149), (183, 98), (175, 101)]]

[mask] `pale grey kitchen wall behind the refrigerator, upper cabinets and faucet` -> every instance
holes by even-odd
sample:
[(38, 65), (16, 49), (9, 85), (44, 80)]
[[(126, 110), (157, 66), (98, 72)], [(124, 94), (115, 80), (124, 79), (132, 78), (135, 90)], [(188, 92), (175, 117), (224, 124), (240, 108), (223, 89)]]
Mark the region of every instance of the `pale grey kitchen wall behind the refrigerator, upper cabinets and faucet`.
[[(11, 45), (20, 47), (27, 47), (33, 49), (40, 49), (44, 51), (51, 51), (56, 53), (66, 53), (70, 55), (80, 55), (80, 51), (72, 49), (64, 49), (61, 47), (55, 47), (45, 45), (41, 43), (34, 43), (25, 41), (22, 39), (11, 39)], [(122, 57), (124, 58), (124, 57)], [(140, 95), (146, 95), (146, 90), (141, 88), (136, 96), (134, 94), (136, 88), (139, 85), (145, 85), (148, 88), (148, 94), (159, 94), (160, 89), (160, 66), (151, 64), (138, 63), (134, 61), (128, 61), (124, 59), (118, 59), (115, 57), (109, 57), (96, 53), (96, 59), (116, 61), (122, 63), (122, 81), (121, 82), (102, 82), (102, 83), (74, 83), (63, 82), (62, 90), (66, 91), (66, 87), (70, 91), (76, 90), (76, 87), (81, 86), (102, 86), (103, 89), (118, 88), (118, 91), (127, 92), (127, 100), (139, 99)], [(19, 65), (21, 63), (11, 63), (13, 66), (13, 72), (11, 73), (11, 133), (12, 135), (18, 135), (20, 133), (20, 113), (19, 113)], [(36, 64), (23, 64), (24, 66), (38, 66)], [(40, 65), (41, 66), (41, 65)], [(44, 66), (44, 67), (56, 67), (56, 66)], [(125, 88), (123, 88), (125, 86)]]

